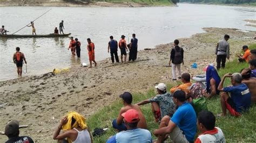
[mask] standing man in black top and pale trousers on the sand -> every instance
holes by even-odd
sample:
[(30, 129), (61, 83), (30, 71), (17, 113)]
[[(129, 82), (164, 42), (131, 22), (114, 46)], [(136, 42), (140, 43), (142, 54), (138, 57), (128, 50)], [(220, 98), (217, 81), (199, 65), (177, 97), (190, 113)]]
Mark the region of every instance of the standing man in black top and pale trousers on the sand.
[(184, 50), (183, 50), (183, 48), (179, 47), (178, 45), (179, 45), (179, 40), (177, 40), (177, 39), (174, 40), (174, 48), (172, 48), (170, 61), (169, 61), (169, 66), (171, 66), (171, 62), (172, 62), (172, 80), (173, 81), (177, 81), (176, 67), (179, 72), (178, 78), (181, 79), (180, 64), (183, 63), (183, 65), (184, 65), (184, 61), (183, 61)]

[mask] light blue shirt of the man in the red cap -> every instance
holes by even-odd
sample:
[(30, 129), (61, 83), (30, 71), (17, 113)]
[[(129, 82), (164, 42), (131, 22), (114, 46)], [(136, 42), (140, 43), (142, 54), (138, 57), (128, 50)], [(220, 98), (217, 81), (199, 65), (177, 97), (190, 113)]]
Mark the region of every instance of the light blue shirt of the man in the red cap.
[(107, 143), (151, 143), (152, 137), (148, 130), (136, 128), (133, 130), (122, 131), (106, 141)]

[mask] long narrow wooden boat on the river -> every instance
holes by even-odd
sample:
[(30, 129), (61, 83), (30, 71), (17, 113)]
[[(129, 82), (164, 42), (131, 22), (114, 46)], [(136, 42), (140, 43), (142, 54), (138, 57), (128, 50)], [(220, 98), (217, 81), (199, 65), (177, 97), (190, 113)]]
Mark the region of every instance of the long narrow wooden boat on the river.
[(3, 38), (51, 38), (51, 37), (67, 37), (69, 34), (45, 34), (45, 35), (17, 35), (17, 34), (0, 34)]

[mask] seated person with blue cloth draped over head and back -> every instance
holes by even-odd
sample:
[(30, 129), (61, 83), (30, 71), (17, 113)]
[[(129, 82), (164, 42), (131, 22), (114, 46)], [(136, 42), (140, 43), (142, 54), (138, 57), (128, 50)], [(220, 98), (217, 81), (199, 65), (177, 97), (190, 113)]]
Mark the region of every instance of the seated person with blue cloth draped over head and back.
[(204, 96), (210, 98), (214, 95), (218, 95), (219, 83), (220, 77), (217, 70), (213, 66), (208, 65), (208, 67), (206, 68), (206, 91), (204, 93)]

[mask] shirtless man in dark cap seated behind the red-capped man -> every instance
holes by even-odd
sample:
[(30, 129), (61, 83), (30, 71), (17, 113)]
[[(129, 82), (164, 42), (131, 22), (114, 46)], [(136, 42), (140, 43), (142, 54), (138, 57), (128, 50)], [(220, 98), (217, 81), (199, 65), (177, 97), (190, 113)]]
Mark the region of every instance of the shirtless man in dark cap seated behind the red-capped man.
[(139, 113), (138, 127), (146, 129), (147, 128), (146, 118), (144, 117), (142, 110), (140, 110), (139, 105), (132, 104), (132, 95), (130, 94), (130, 92), (124, 92), (119, 97), (122, 98), (124, 107), (120, 109), (117, 119), (113, 120), (112, 122), (113, 128), (116, 128), (118, 132), (126, 131), (127, 128), (124, 124), (124, 121), (123, 121), (124, 117), (122, 116), (122, 113), (126, 112), (129, 109), (134, 109)]

